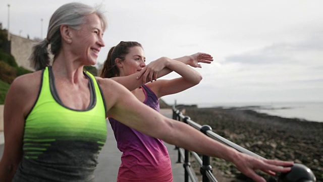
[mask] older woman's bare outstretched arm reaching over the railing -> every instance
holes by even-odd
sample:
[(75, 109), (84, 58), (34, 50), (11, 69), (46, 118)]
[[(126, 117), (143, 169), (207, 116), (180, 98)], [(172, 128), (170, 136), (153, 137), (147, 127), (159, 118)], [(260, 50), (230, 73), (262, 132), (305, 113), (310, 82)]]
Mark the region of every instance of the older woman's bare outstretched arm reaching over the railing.
[(208, 138), (187, 124), (159, 114), (141, 103), (129, 90), (117, 82), (109, 79), (98, 79), (98, 81), (106, 98), (107, 116), (139, 132), (197, 153), (233, 162), (241, 172), (255, 181), (265, 181), (255, 173), (255, 170), (275, 174), (275, 172), (288, 172), (290, 167), (282, 166), (293, 165), (293, 162), (265, 160), (240, 153)]

